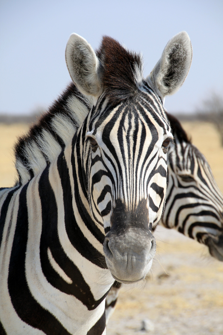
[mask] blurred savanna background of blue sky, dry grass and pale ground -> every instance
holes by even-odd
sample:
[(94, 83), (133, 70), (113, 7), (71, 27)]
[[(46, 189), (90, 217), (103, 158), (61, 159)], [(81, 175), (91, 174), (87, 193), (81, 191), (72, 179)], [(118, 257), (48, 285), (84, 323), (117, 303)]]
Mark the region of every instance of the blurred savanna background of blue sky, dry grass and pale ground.
[[(72, 32), (94, 49), (109, 35), (141, 51), (147, 76), (165, 44), (186, 30), (193, 60), (167, 97), (223, 192), (223, 2), (220, 0), (2, 0), (0, 2), (0, 187), (13, 186), (13, 145), (70, 81), (65, 47)], [(158, 227), (147, 282), (124, 285), (108, 335), (222, 335), (223, 263), (208, 249)]]

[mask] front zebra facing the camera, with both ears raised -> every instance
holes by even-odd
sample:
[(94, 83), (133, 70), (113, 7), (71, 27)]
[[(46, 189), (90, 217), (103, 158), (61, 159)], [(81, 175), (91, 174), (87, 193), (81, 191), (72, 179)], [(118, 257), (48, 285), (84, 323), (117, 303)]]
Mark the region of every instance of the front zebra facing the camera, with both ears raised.
[(163, 100), (191, 60), (181, 32), (144, 79), (116, 40), (94, 52), (70, 36), (73, 83), (18, 140), (18, 182), (0, 190), (1, 334), (105, 334), (114, 280), (145, 278), (173, 138)]

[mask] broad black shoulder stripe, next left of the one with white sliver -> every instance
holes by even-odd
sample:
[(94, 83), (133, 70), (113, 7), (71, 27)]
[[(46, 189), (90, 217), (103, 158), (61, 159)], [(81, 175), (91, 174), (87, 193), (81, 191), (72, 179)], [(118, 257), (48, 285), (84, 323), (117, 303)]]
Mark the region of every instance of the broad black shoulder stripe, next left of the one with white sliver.
[[(14, 241), (9, 264), (8, 290), (13, 307), (22, 321), (47, 335), (68, 335), (61, 323), (33, 298), (25, 276), (25, 254), (28, 239), (26, 191), (21, 190)], [(28, 252), (28, 251), (27, 251)]]

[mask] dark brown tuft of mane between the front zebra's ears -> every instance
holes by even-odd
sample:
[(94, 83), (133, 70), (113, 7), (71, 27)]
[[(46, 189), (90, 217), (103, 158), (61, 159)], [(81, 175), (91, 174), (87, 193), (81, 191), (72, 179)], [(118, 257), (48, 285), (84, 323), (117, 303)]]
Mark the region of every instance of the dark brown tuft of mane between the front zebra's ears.
[(142, 75), (142, 57), (104, 36), (96, 54), (102, 63), (100, 79), (112, 104), (134, 95)]

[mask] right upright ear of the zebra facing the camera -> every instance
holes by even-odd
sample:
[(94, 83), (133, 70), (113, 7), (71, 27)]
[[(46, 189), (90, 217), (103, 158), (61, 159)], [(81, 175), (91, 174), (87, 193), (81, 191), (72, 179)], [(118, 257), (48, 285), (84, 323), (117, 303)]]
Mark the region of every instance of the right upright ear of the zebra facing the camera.
[(192, 46), (186, 31), (175, 35), (163, 50), (150, 75), (161, 97), (175, 93), (186, 79), (192, 61)]

